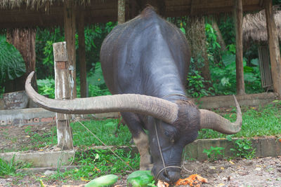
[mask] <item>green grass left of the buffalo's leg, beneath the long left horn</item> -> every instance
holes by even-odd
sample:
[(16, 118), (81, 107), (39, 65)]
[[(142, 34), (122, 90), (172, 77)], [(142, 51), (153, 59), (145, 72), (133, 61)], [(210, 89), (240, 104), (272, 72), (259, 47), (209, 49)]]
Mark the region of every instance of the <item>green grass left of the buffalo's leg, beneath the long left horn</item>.
[[(107, 120), (89, 120), (82, 121), (91, 132), (101, 139), (107, 145), (124, 146), (129, 145), (131, 140), (131, 132), (129, 132), (126, 125), (120, 125), (117, 128), (119, 119)], [(80, 123), (70, 123), (73, 133), (74, 146), (103, 146), (92, 134), (90, 134)], [(52, 130), (48, 133), (37, 134), (30, 132), (30, 139), (34, 146), (41, 148), (48, 145), (55, 145), (57, 142), (57, 130), (54, 125)]]

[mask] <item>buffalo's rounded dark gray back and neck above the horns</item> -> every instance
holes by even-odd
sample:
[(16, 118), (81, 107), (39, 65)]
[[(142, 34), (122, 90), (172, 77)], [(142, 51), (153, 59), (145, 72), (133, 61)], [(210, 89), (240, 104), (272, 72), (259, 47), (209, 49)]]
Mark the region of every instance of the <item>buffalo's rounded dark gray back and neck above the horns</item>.
[(101, 62), (112, 94), (185, 95), (190, 60), (183, 33), (148, 8), (103, 41)]

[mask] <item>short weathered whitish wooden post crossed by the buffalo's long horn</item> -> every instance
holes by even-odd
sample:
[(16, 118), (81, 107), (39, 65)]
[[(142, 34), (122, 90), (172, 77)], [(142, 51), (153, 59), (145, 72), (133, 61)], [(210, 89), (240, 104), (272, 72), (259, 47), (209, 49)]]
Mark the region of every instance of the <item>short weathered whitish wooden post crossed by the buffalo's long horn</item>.
[[(53, 57), (55, 60), (55, 99), (70, 99), (70, 63), (65, 42), (53, 43)], [(55, 113), (58, 148), (62, 150), (71, 149), (73, 146), (70, 118), (69, 114)]]

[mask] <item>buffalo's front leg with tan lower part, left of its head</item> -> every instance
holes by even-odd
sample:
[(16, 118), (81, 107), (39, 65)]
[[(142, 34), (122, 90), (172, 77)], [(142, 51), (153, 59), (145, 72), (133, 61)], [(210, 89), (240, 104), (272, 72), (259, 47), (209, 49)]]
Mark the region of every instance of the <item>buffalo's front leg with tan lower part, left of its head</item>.
[(150, 153), (148, 152), (149, 141), (148, 135), (144, 132), (142, 122), (135, 113), (122, 112), (122, 118), (132, 134), (133, 141), (135, 142), (138, 152), (140, 153), (140, 169), (152, 169), (150, 164)]

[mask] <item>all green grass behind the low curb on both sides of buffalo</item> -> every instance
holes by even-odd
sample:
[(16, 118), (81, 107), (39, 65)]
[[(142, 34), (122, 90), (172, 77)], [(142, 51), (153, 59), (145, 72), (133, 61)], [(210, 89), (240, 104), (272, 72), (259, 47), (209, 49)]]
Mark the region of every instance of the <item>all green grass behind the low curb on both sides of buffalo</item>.
[[(219, 113), (219, 111), (216, 111)], [(235, 121), (235, 109), (223, 117)], [(281, 134), (281, 102), (268, 104), (266, 106), (250, 107), (242, 111), (242, 130), (231, 137), (263, 137), (280, 136)], [(120, 125), (117, 129), (119, 119), (107, 120), (89, 120), (82, 122), (99, 137), (105, 144), (114, 146), (129, 145), (131, 133), (126, 125)], [(93, 137), (79, 123), (71, 123), (73, 132), (74, 146), (102, 146), (103, 144)], [(56, 129), (45, 134), (36, 134), (26, 129), (31, 136), (34, 146), (44, 147), (46, 145), (56, 144)], [(228, 135), (221, 134), (214, 130), (200, 130), (198, 139), (226, 138)]]

